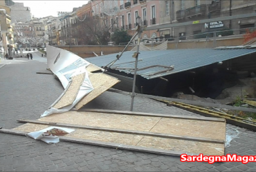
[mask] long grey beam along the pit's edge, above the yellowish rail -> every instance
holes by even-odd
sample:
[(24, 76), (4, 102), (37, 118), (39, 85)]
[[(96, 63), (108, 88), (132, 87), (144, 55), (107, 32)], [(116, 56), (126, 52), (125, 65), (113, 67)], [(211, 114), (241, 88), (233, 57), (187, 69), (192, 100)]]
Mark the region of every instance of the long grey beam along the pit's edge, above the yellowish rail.
[[(116, 92), (116, 93), (120, 93), (120, 94), (126, 94), (126, 95), (130, 95), (130, 92), (122, 92), (119, 90), (108, 90), (109, 92)], [(230, 110), (237, 110), (237, 111), (250, 111), (253, 113), (256, 113), (256, 109), (253, 108), (246, 108), (246, 107), (232, 107), (229, 105), (221, 105), (221, 104), (215, 104), (215, 103), (205, 103), (205, 102), (199, 102), (199, 101), (192, 101), (192, 100), (182, 100), (182, 99), (178, 99), (178, 98), (167, 98), (167, 97), (161, 97), (161, 96), (152, 96), (152, 95), (147, 95), (147, 94), (134, 94), (135, 96), (138, 97), (145, 97), (145, 98), (154, 98), (154, 99), (158, 99), (158, 100), (169, 100), (169, 101), (173, 101), (173, 102), (181, 102), (181, 103), (187, 103), (190, 105), (196, 105), (196, 106), (202, 106), (202, 107), (217, 107), (217, 108), (223, 108), (223, 109), (230, 109)]]

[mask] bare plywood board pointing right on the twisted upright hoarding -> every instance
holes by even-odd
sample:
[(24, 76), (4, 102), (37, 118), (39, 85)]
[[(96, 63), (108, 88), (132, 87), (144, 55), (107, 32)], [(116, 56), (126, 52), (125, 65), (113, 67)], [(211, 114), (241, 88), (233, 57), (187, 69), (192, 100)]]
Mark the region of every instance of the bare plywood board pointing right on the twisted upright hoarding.
[(80, 102), (75, 105), (75, 109), (82, 108), (91, 100), (107, 91), (107, 89), (120, 82), (120, 80), (118, 80), (117, 78), (114, 78), (104, 73), (89, 73), (89, 79), (91, 80), (91, 84), (93, 85), (93, 91), (84, 96), (84, 98), (82, 98), (82, 100), (80, 100)]

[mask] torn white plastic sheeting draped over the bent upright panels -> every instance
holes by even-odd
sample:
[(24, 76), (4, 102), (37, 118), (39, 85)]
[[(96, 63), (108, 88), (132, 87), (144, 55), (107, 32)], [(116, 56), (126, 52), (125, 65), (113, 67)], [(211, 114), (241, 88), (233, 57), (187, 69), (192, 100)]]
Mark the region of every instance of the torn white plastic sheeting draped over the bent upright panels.
[(44, 114), (41, 117), (48, 116), (55, 113), (63, 113), (72, 109), (86, 94), (89, 94), (93, 90), (91, 81), (89, 79), (89, 74), (86, 71), (86, 67), (90, 63), (85, 61), (80, 56), (62, 50), (57, 47), (47, 46), (47, 66), (53, 74), (55, 74), (62, 83), (64, 89), (68, 86), (68, 83), (71, 80), (71, 77), (78, 74), (85, 74), (84, 81), (80, 86), (78, 94), (71, 105), (62, 107), (60, 109), (53, 108), (53, 105), (44, 111)]

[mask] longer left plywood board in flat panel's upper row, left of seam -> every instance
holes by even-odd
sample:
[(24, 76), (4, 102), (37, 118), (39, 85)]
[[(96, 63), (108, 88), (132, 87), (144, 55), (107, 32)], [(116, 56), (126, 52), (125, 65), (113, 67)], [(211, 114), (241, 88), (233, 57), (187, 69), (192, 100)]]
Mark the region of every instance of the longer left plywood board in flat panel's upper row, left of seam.
[(136, 131), (149, 131), (160, 119), (159, 117), (104, 114), (84, 111), (67, 111), (62, 114), (52, 114), (51, 116), (39, 118), (40, 121), (46, 122), (60, 122), (73, 125)]

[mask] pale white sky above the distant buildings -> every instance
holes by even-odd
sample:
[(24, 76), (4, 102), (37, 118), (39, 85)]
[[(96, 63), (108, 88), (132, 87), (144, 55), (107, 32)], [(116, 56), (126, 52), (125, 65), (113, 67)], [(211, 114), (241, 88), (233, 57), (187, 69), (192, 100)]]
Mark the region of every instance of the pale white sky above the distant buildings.
[(88, 1), (80, 0), (65, 0), (65, 1), (39, 1), (39, 0), (14, 0), (17, 3), (24, 3), (25, 7), (30, 7), (31, 15), (34, 17), (42, 18), (47, 16), (57, 17), (57, 12), (72, 12), (73, 8), (78, 8)]

